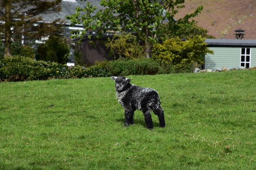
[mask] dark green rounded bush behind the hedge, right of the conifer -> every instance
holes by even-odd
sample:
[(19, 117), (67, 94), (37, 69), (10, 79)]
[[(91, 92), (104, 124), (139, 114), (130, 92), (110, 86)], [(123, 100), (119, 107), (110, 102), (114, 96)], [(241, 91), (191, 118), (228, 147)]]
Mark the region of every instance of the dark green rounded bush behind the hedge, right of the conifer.
[(51, 36), (37, 48), (36, 60), (44, 60), (66, 64), (70, 55), (70, 47), (66, 38)]

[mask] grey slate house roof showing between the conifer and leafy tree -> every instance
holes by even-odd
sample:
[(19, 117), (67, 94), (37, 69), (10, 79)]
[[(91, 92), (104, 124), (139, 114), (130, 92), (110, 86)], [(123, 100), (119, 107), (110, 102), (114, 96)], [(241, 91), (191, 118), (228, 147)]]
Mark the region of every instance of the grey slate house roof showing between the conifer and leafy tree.
[(101, 0), (62, 0), (61, 6), (62, 10), (59, 13), (49, 13), (41, 15), (43, 17), (44, 22), (53, 22), (56, 19), (65, 20), (67, 24), (70, 24), (70, 20), (66, 20), (66, 15), (71, 15), (76, 12), (76, 7), (84, 8), (87, 2), (90, 2), (92, 6), (96, 6), (97, 9), (94, 11), (96, 13), (100, 9), (104, 9), (99, 3)]

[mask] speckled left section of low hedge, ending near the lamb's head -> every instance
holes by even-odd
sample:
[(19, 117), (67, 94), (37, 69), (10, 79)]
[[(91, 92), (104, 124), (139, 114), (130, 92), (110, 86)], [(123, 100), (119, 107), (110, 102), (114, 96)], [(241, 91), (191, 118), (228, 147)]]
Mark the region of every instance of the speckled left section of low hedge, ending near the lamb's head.
[(5, 57), (4, 60), (0, 61), (0, 81), (18, 82), (101, 76), (110, 76), (110, 73), (97, 66), (89, 68), (81, 66), (68, 67), (56, 62), (36, 61), (22, 56)]

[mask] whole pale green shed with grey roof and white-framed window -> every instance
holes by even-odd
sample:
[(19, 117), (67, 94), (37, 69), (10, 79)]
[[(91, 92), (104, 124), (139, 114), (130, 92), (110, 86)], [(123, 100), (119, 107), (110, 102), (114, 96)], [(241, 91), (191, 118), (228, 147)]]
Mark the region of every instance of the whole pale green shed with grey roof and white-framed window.
[(205, 56), (204, 69), (256, 66), (256, 40), (206, 39), (205, 42), (214, 54)]

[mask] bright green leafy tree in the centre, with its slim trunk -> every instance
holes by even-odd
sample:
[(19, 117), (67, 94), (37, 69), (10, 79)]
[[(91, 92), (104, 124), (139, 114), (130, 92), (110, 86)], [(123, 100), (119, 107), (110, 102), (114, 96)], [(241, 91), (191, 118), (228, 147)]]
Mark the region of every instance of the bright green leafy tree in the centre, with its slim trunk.
[[(88, 30), (97, 30), (98, 35), (107, 31), (131, 31), (143, 40), (147, 57), (150, 56), (152, 45), (161, 38), (166, 30), (177, 32), (178, 26), (195, 17), (203, 9), (198, 7), (194, 13), (187, 14), (180, 20), (175, 20), (177, 9), (184, 8), (185, 0), (101, 0), (105, 9), (94, 14), (97, 7), (90, 2), (87, 6), (76, 8), (76, 13), (66, 16), (72, 24), (83, 24), (85, 35)], [(172, 29), (171, 29), (172, 28)]]

